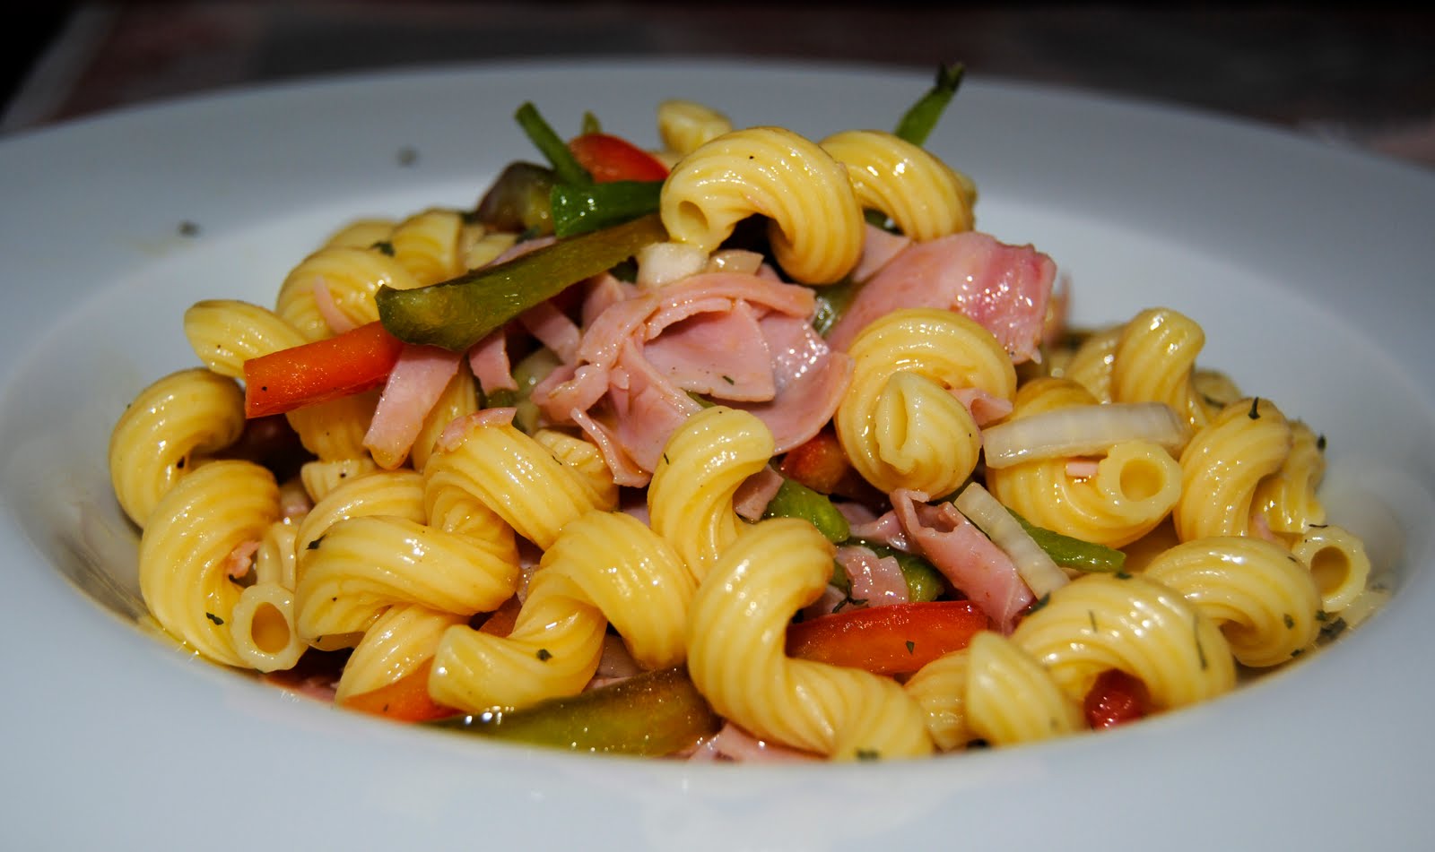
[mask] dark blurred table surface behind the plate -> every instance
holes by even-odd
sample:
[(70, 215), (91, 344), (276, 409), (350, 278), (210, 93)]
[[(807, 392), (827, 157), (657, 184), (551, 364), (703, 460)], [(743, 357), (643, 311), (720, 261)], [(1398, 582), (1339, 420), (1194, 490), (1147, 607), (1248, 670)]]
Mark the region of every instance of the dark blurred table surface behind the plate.
[(234, 86), (534, 56), (960, 60), (1435, 168), (1435, 13), (1379, 3), (75, 3), (32, 36), (0, 133)]

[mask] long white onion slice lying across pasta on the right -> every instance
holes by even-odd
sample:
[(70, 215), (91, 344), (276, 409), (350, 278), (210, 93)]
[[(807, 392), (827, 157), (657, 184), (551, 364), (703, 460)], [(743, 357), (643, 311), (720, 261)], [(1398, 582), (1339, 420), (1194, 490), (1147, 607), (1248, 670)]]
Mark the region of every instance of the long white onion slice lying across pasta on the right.
[(1190, 439), (1190, 426), (1165, 403), (1069, 406), (982, 430), (987, 468), (1091, 456), (1124, 440), (1149, 440), (1177, 453)]

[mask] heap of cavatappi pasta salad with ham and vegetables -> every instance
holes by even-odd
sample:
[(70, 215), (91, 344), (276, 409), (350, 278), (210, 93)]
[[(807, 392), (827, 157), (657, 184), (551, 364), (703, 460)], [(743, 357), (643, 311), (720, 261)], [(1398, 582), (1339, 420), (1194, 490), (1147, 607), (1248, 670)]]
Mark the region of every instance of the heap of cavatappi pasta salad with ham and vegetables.
[[(590, 242), (647, 211), (666, 240), (476, 343), (403, 343), (383, 293), (577, 245), (563, 155), (474, 211), (336, 228), (273, 304), (185, 313), (201, 366), (109, 446), (164, 633), (406, 721), (676, 670), (706, 720), (676, 756), (868, 760), (1215, 699), (1379, 601), (1320, 501), (1325, 439), (1198, 366), (1194, 317), (1065, 328), (1052, 261), (974, 231), (974, 184), (920, 139), (687, 100), (657, 131), (570, 151), (650, 186)], [(293, 361), (298, 397), (248, 407), (284, 390), (257, 364), (375, 333), (366, 382)]]

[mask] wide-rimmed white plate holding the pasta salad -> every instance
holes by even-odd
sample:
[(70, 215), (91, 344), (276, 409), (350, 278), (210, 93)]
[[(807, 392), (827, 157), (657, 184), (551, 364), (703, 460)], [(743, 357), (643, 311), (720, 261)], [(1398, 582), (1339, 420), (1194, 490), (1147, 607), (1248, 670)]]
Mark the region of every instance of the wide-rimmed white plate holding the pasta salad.
[[(103, 466), (133, 393), (195, 363), (198, 298), (273, 298), (334, 225), (465, 204), (584, 109), (654, 142), (690, 98), (819, 136), (890, 128), (927, 75), (507, 65), (121, 112), (0, 143), (0, 846), (1409, 848), (1435, 681), (1435, 176), (1168, 108), (974, 79), (930, 145), (979, 225), (1035, 242), (1082, 321), (1170, 304), (1203, 363), (1329, 436), (1329, 503), (1393, 602), (1314, 658), (1105, 736), (911, 765), (684, 766), (495, 747), (284, 697), (138, 630)], [(408, 152), (408, 153), (405, 153)], [(408, 156), (413, 155), (413, 156)], [(400, 161), (412, 159), (409, 165)], [(192, 222), (197, 235), (182, 235)]]

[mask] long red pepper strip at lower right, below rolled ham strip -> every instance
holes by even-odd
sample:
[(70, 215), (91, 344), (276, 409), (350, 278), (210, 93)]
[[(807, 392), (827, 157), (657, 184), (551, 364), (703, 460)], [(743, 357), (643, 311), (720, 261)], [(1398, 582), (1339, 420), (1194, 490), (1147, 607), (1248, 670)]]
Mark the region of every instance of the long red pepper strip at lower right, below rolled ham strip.
[(848, 610), (788, 627), (788, 655), (872, 674), (917, 671), (992, 625), (971, 601)]

